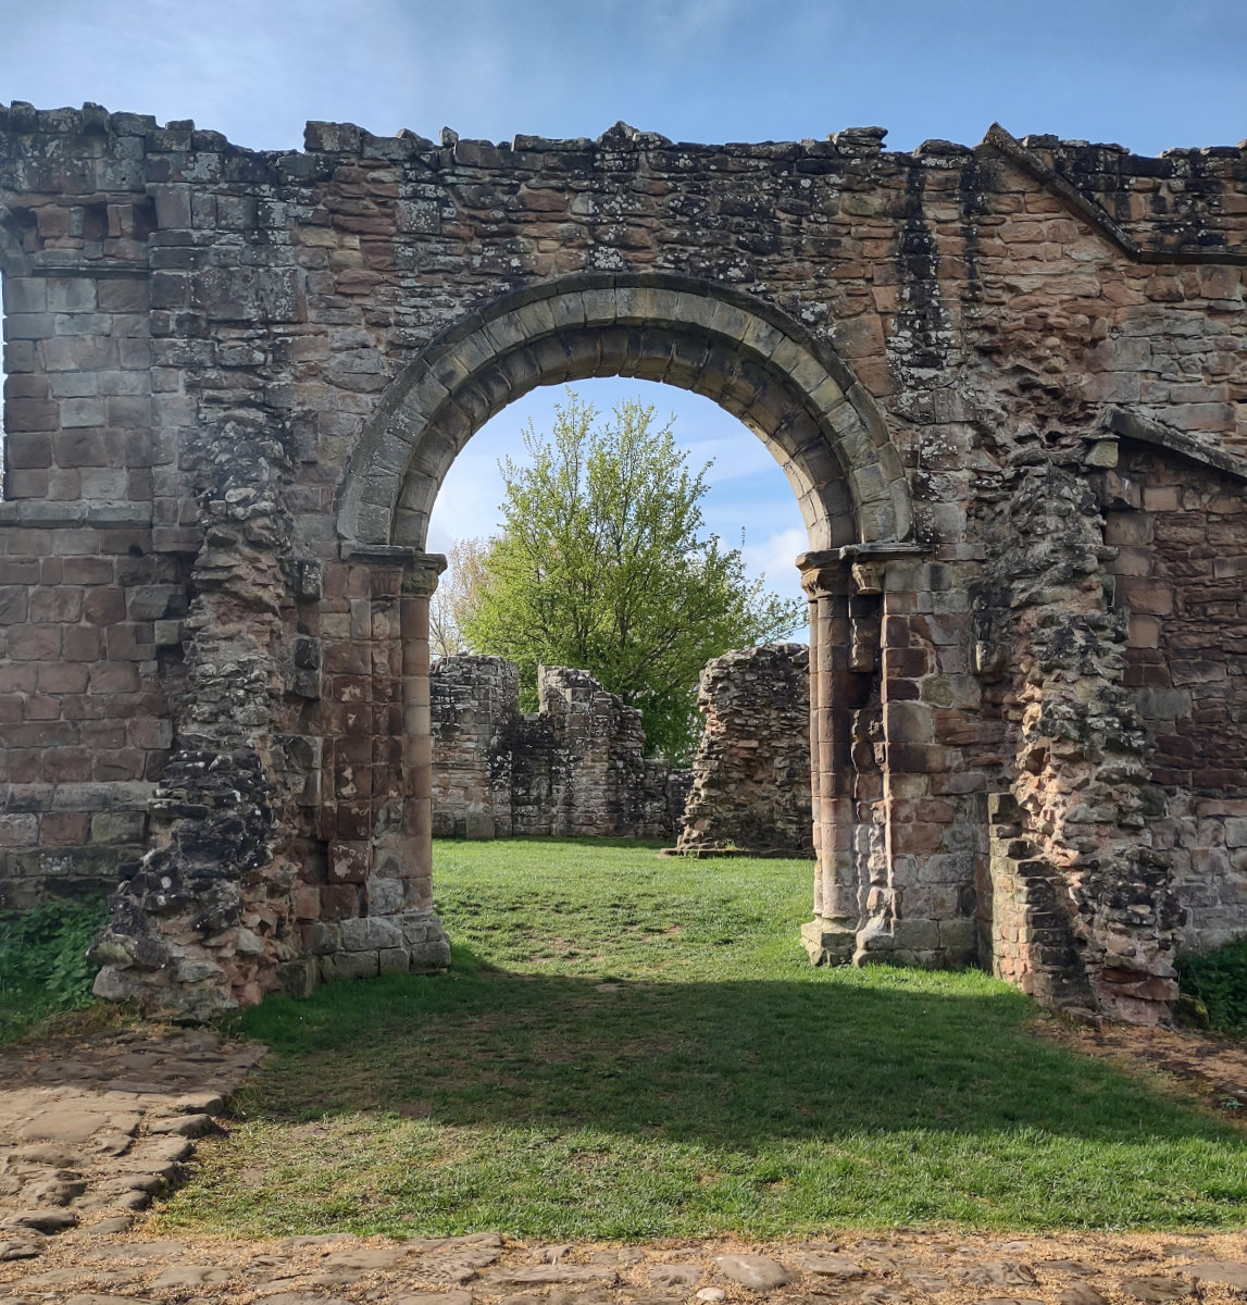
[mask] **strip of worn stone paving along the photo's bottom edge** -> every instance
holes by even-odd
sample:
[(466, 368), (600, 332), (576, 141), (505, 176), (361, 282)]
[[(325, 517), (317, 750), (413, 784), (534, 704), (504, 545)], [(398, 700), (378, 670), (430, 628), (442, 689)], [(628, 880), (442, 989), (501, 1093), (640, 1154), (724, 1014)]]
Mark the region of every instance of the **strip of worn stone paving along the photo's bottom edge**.
[[(0, 1263), (14, 1305), (1240, 1305), (1243, 1232), (1004, 1238), (848, 1232), (818, 1241), (569, 1244), (145, 1236), (115, 1221)], [(613, 1261), (612, 1265), (604, 1261)], [(820, 1271), (822, 1270), (822, 1271)], [(830, 1271), (828, 1271), (830, 1270)]]

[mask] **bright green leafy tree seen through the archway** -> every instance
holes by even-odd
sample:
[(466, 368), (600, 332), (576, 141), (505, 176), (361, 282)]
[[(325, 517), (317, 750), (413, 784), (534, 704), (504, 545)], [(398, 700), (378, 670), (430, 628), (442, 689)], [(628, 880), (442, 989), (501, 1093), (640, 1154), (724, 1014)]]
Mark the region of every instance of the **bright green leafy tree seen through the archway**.
[(740, 549), (704, 532), (711, 465), (691, 472), (651, 406), (626, 399), (599, 423), (567, 390), (554, 411), (549, 440), (528, 423), (531, 465), (501, 463), (502, 532), (463, 633), (476, 651), (519, 663), (526, 686), (537, 663), (590, 671), (640, 709), (652, 753), (687, 757), (706, 662), (787, 634), (805, 604), (766, 592)]

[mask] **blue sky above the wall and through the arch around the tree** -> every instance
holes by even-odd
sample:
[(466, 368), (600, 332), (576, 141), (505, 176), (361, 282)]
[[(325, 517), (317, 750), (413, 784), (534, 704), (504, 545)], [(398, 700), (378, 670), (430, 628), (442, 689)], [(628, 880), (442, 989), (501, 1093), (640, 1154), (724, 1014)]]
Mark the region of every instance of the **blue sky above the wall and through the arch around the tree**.
[[(0, 0), (13, 99), (193, 117), (254, 149), (299, 147), (309, 117), (490, 140), (618, 119), (706, 142), (879, 125), (891, 149), (972, 145), (998, 120), (1156, 154), (1247, 137), (1247, 0)], [(580, 390), (609, 408), (638, 384)], [(698, 466), (715, 458), (711, 529), (734, 543), (744, 526), (746, 560), (793, 592), (800, 518), (760, 445), (695, 395), (644, 392)], [(560, 397), (473, 438), (432, 547), (488, 531), (497, 458)]]

